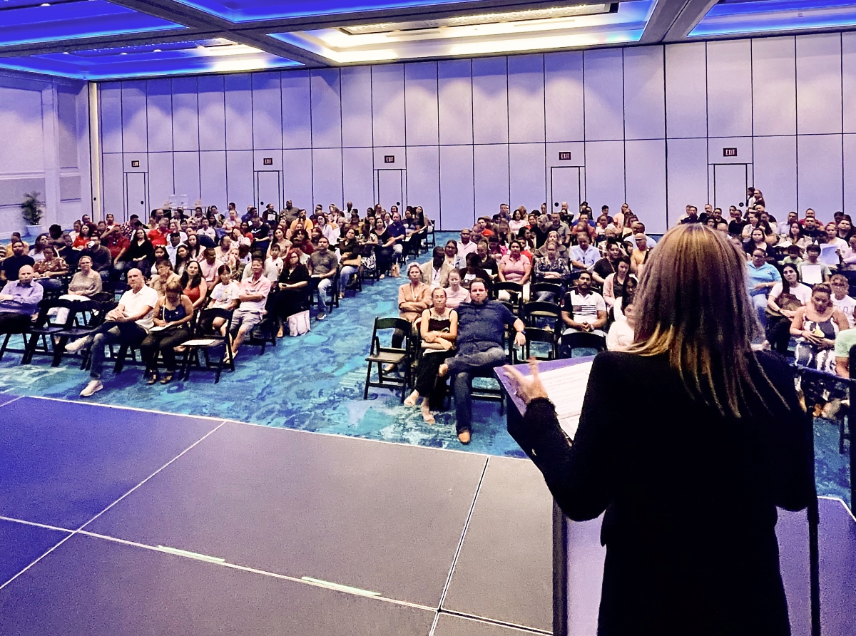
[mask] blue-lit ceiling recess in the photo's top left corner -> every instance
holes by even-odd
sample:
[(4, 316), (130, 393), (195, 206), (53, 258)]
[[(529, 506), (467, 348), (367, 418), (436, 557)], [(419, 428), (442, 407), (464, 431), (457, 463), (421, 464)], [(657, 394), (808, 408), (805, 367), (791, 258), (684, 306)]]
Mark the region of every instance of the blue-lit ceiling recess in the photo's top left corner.
[(24, 3), (0, 0), (0, 45), (23, 45), (62, 39), (183, 29), (180, 24), (104, 0)]

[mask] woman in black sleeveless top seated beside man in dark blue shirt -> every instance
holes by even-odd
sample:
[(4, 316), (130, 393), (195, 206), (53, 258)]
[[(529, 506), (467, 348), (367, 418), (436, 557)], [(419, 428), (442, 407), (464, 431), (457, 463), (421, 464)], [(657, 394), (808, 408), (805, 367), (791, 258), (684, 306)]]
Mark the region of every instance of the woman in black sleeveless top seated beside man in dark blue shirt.
[[(457, 276), (458, 272), (453, 272)], [(455, 338), (458, 335), (458, 314), (446, 305), (446, 290), (436, 287), (431, 290), (431, 302), (422, 312), (419, 321), (419, 368), (416, 371), (416, 383), (413, 393), (407, 396), (405, 406), (415, 407), (422, 396), (422, 419), (427, 424), (434, 424), (431, 414), (431, 396), (437, 394), (437, 378), (440, 365), (455, 354)], [(439, 392), (442, 401), (442, 391)]]

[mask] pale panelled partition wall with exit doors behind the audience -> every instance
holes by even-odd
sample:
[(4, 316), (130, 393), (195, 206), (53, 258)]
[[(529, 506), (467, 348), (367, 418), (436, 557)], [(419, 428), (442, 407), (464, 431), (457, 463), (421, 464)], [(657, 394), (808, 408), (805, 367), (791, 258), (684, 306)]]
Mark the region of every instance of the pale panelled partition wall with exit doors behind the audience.
[[(104, 206), (856, 211), (856, 33), (99, 85)], [(799, 166), (799, 168), (798, 168)]]

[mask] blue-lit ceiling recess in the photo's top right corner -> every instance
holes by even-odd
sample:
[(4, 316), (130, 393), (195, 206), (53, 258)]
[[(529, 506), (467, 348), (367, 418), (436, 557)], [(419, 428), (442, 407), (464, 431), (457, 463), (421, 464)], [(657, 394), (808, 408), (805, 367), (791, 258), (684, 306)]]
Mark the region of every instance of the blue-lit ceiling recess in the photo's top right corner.
[(690, 38), (856, 25), (853, 0), (755, 0), (713, 5)]

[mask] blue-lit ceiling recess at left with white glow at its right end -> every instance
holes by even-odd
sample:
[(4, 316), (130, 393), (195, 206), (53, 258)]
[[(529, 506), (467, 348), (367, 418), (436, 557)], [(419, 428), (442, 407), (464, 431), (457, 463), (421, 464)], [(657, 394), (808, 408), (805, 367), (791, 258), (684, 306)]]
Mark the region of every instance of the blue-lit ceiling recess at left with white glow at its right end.
[(300, 66), (300, 62), (223, 39), (0, 57), (0, 68), (60, 75), (77, 80), (229, 73), (294, 66)]

